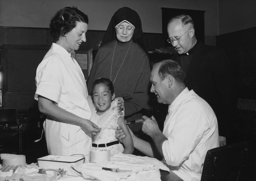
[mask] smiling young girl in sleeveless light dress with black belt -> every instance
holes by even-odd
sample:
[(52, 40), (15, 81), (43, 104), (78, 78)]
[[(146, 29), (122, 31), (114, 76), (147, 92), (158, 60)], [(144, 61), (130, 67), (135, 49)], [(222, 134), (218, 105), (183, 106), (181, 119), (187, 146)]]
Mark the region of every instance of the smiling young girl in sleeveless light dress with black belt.
[[(116, 110), (113, 83), (106, 78), (100, 78), (92, 84), (92, 100), (96, 106), (96, 112), (92, 111), (91, 121), (101, 127), (96, 136), (92, 136), (92, 150), (110, 149), (110, 157), (116, 153), (132, 154), (133, 141), (131, 133), (123, 116)], [(115, 137), (117, 126), (120, 126), (126, 135), (123, 139), (124, 146)]]

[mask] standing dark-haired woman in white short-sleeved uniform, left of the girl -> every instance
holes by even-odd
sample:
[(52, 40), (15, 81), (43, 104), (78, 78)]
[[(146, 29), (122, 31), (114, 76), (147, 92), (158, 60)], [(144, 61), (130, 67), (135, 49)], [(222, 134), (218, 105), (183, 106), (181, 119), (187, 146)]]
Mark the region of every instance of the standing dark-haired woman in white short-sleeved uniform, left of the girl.
[(77, 8), (59, 10), (50, 23), (57, 41), (36, 70), (35, 99), (40, 112), (47, 115), (44, 133), (50, 155), (89, 156), (91, 136), (101, 129), (89, 120), (84, 74), (70, 53), (86, 41), (87, 28), (88, 17)]

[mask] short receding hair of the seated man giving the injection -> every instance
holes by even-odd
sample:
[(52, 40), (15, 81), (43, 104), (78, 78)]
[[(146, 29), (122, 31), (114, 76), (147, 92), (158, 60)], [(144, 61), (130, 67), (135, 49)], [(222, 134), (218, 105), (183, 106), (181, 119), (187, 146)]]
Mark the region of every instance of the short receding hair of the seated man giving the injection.
[(173, 60), (163, 60), (160, 62), (160, 67), (158, 70), (158, 75), (161, 80), (167, 75), (171, 75), (177, 82), (183, 82), (185, 80), (186, 74), (180, 67), (180, 65)]

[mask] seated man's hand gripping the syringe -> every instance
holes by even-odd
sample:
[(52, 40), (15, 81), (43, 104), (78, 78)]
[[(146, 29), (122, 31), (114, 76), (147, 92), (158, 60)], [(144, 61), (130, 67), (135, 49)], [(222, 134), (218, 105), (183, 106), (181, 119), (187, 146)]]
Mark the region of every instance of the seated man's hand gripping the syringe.
[(151, 119), (147, 116), (142, 116), (142, 118), (144, 119), (142, 122), (142, 131), (148, 136), (153, 137), (156, 133), (161, 132), (154, 116), (151, 116)]

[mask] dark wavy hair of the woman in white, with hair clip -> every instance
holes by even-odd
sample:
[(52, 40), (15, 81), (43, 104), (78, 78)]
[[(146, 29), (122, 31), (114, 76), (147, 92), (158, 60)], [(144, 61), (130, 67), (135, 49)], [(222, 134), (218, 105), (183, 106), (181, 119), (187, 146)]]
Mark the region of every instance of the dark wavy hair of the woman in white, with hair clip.
[(55, 40), (59, 40), (60, 35), (65, 36), (74, 27), (76, 22), (88, 24), (88, 16), (76, 7), (65, 7), (56, 12), (50, 23), (50, 32)]

